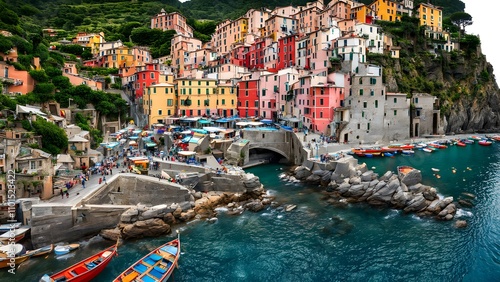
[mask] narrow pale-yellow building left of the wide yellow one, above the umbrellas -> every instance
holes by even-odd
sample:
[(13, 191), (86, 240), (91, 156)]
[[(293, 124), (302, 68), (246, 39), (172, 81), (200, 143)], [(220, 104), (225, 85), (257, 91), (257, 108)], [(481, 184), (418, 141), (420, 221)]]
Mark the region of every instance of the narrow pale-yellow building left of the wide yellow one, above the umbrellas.
[(143, 96), (144, 113), (148, 115), (148, 124), (166, 123), (168, 117), (176, 114), (177, 97), (172, 75), (160, 75), (157, 84), (146, 87)]

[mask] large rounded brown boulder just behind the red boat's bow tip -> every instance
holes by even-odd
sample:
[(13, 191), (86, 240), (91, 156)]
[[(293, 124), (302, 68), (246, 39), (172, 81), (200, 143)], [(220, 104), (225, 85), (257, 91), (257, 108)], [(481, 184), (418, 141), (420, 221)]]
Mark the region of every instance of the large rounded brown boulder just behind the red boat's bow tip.
[(170, 225), (159, 218), (152, 218), (125, 226), (122, 229), (122, 237), (124, 239), (155, 237), (170, 231)]

